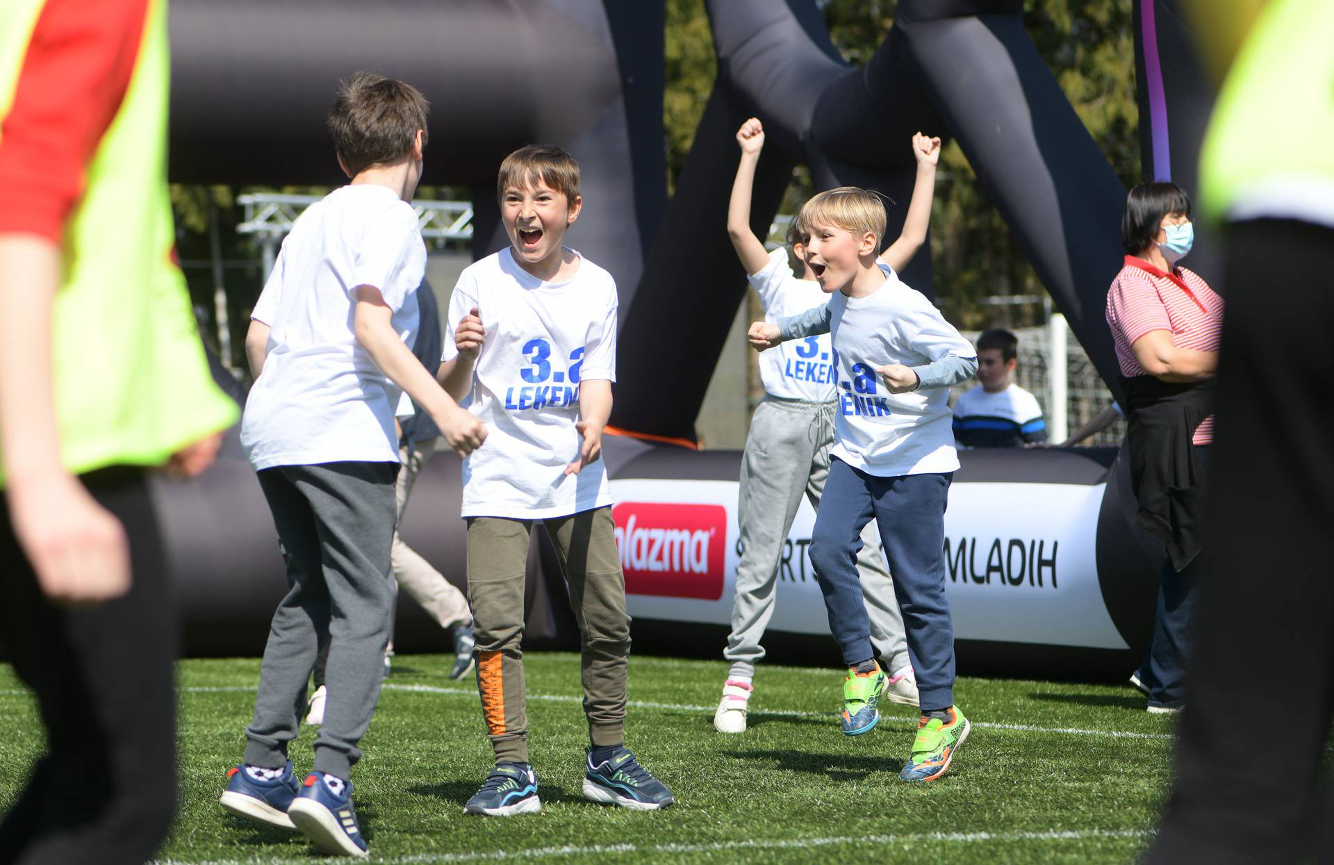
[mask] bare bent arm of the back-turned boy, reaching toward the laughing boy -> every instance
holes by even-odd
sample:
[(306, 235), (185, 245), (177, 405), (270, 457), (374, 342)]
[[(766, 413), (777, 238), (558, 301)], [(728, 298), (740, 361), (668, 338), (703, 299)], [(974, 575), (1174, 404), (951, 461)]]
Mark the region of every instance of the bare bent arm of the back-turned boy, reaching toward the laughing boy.
[(487, 438), (486, 424), (460, 408), (431, 380), (431, 374), (394, 330), (391, 320), (394, 310), (384, 303), (380, 290), (374, 286), (358, 286), (352, 290), (352, 299), (356, 300), (354, 314), (356, 342), (371, 355), (371, 360), (431, 415), (440, 427), (440, 434), (459, 457), (467, 457), (482, 447), (482, 442)]

